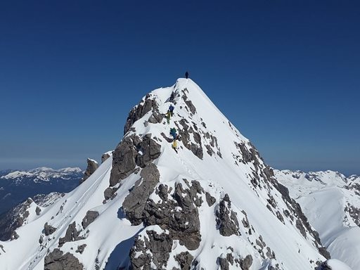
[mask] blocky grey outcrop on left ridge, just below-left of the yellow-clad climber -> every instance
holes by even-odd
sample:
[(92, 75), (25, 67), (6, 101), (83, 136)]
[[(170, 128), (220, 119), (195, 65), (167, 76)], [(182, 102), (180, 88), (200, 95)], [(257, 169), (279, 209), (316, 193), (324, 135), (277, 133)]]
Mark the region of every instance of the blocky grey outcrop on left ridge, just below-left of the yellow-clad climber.
[(113, 169), (110, 175), (110, 186), (115, 186), (122, 179), (135, 171), (136, 165), (145, 167), (159, 158), (161, 146), (146, 134), (143, 139), (131, 135), (122, 140), (113, 152)]

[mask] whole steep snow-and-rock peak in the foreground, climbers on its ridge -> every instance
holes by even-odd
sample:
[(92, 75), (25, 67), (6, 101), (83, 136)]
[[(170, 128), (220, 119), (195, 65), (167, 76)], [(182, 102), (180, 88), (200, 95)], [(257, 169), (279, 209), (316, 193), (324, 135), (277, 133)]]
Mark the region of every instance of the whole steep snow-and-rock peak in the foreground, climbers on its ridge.
[(304, 270), (328, 257), (287, 188), (191, 79), (146, 95), (78, 188), (26, 207), (0, 242), (1, 269)]

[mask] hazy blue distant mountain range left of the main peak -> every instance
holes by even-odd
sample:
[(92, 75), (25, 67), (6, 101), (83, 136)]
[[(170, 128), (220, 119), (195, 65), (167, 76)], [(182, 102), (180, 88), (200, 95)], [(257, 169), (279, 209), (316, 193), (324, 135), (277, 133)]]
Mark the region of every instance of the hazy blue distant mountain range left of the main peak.
[(72, 191), (83, 175), (82, 169), (70, 167), (0, 171), (0, 214), (37, 194)]

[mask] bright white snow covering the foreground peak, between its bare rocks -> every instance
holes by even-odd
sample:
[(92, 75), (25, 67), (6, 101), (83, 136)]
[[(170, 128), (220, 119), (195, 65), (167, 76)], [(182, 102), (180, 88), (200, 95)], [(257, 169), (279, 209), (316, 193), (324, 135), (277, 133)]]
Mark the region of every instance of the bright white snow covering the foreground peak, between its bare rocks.
[[(248, 139), (245, 139), (238, 129), (233, 127), (197, 84), (191, 79), (178, 79), (174, 86), (155, 89), (150, 96), (158, 103), (160, 113), (165, 114), (169, 108), (169, 97), (172, 92), (181, 94), (184, 89), (188, 91), (186, 92), (188, 100), (195, 105), (194, 115), (186, 109), (184, 100), (177, 98), (174, 117), (170, 124), (164, 121), (160, 124), (144, 125), (150, 117), (148, 113), (133, 124), (134, 132), (139, 136), (151, 133), (153, 137), (162, 139), (160, 135), (162, 132), (169, 134), (169, 128), (173, 127), (174, 121), (179, 122), (184, 118), (188, 122), (194, 122), (199, 129), (217, 137), (222, 158), (219, 155), (208, 155), (204, 148), (204, 157), (200, 160), (190, 150), (184, 148), (181, 142), (179, 142), (179, 153), (176, 154), (171, 144), (162, 139), (160, 158), (154, 161), (160, 171), (160, 184), (171, 186), (175, 182), (183, 181), (182, 179), (197, 180), (205, 191), (217, 199), (217, 203), (225, 193), (229, 193), (233, 211), (238, 213), (238, 217), (242, 217), (241, 211), (244, 210), (256, 232), (248, 236), (245, 228), (240, 226), (241, 236), (221, 236), (214, 217), (217, 203), (212, 207), (203, 203), (199, 207), (202, 236), (200, 247), (190, 251), (199, 262), (197, 269), (219, 269), (217, 257), (226, 257), (229, 247), (240, 255), (252, 255), (254, 261), (250, 269), (266, 270), (269, 266), (278, 264), (280, 269), (305, 270), (314, 269), (315, 262), (325, 261), (325, 258), (319, 255), (314, 247), (313, 239), (304, 238), (289, 219), (285, 218), (283, 224), (266, 208), (267, 191), (264, 188), (255, 191), (250, 185), (249, 176), (254, 166), (243, 163), (236, 165), (234, 162), (233, 153), (236, 152), (234, 142), (248, 143)], [(114, 114), (110, 115), (113, 117)], [(114, 136), (117, 135), (114, 134)], [(209, 141), (204, 143), (209, 143)], [(108, 158), (74, 191), (59, 198), (49, 207), (41, 207), (40, 216), (34, 214), (37, 205), (32, 203), (27, 224), (17, 230), (20, 238), (0, 242), (5, 251), (0, 249), (1, 270), (44, 269), (44, 257), (48, 250), (58, 248), (59, 238), (65, 235), (66, 229), (72, 222), (76, 221), (78, 229), (81, 229), (82, 219), (88, 210), (96, 210), (100, 215), (86, 230), (82, 231), (82, 236), (86, 236), (86, 239), (65, 243), (61, 250), (64, 253), (71, 252), (79, 259), (79, 262), (84, 264), (84, 268), (89, 270), (95, 269), (95, 258), (99, 269), (113, 270), (118, 266), (127, 266), (129, 250), (134, 243), (134, 238), (137, 235), (144, 237), (144, 228), (143, 225), (131, 226), (120, 211), (120, 207), (129, 194), (129, 189), (139, 180), (139, 174), (131, 174), (124, 179), (117, 190), (116, 197), (103, 204), (104, 191), (109, 186), (111, 168), (112, 158)], [(281, 199), (281, 194), (275, 189), (271, 192), (278, 202), (277, 207), (285, 209), (286, 205)], [(155, 193), (151, 196), (153, 200), (158, 199)], [(203, 201), (205, 202), (205, 196)], [(40, 245), (39, 238), (46, 222), (57, 230), (51, 236), (44, 237), (43, 244)], [(151, 229), (162, 231), (159, 226), (152, 226)], [(266, 245), (275, 252), (276, 260), (264, 259), (259, 255), (255, 247), (255, 238), (260, 235)], [(77, 247), (84, 243), (87, 245), (84, 252), (81, 255), (75, 252)], [(185, 250), (179, 241), (174, 241), (172, 255)], [(167, 269), (173, 269), (173, 267), (179, 268), (179, 264), (170, 256)], [(236, 268), (230, 266), (230, 269)]]

